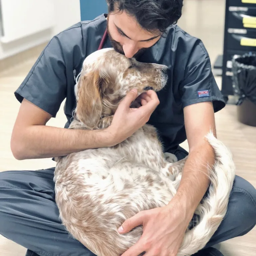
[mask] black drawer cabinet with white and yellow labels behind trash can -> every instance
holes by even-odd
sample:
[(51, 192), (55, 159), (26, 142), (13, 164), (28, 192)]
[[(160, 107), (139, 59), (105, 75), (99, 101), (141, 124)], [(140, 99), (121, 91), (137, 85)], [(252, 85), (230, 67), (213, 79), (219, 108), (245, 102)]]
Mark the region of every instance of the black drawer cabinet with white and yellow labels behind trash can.
[(233, 95), (232, 58), (256, 53), (256, 0), (226, 0), (222, 94)]

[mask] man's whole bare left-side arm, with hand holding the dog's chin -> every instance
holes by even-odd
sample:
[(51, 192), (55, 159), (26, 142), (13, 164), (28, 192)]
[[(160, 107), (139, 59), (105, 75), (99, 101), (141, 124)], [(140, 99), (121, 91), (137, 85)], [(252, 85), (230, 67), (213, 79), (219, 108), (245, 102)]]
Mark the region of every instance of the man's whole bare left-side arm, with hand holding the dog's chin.
[[(85, 149), (114, 146), (142, 127), (159, 104), (157, 94), (148, 91), (145, 106), (131, 109), (137, 97), (132, 90), (120, 103), (112, 124), (102, 130), (77, 130), (46, 126), (49, 113), (24, 99), (13, 128), (11, 150), (16, 159), (65, 156)], [(123, 123), (126, 125), (124, 126)]]

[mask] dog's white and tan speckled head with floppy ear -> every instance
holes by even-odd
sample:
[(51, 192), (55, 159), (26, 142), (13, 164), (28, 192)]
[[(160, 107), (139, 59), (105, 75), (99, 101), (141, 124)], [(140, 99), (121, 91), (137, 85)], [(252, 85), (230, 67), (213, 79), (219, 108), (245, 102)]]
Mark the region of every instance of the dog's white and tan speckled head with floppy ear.
[(93, 129), (101, 118), (113, 115), (133, 88), (138, 95), (161, 90), (167, 82), (167, 66), (128, 59), (112, 48), (89, 55), (75, 86), (76, 118)]

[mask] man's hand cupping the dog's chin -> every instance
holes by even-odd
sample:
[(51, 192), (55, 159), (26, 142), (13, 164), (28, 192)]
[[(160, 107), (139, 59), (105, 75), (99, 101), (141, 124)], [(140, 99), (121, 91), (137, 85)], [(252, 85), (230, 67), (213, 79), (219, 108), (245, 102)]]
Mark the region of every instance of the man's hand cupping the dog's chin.
[(107, 128), (114, 138), (114, 144), (124, 141), (145, 125), (159, 105), (157, 94), (152, 90), (147, 91), (141, 97), (141, 107), (131, 108), (136, 98), (137, 90), (132, 89), (119, 104), (112, 123)]

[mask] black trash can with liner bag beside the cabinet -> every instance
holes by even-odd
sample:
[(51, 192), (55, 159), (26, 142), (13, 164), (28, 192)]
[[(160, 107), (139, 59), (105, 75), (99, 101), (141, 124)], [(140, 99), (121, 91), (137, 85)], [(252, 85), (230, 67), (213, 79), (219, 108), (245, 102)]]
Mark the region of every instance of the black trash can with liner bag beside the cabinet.
[(232, 71), (238, 121), (256, 127), (256, 54), (235, 55)]

